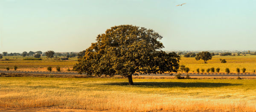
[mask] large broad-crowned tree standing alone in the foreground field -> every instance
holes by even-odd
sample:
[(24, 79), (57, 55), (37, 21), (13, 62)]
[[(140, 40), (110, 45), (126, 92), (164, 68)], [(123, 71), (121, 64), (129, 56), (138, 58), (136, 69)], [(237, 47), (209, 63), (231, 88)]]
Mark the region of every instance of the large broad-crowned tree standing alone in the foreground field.
[(87, 75), (102, 74), (128, 77), (148, 73), (177, 72), (180, 56), (165, 53), (158, 33), (133, 25), (111, 27), (97, 36), (96, 43), (85, 50), (74, 70)]

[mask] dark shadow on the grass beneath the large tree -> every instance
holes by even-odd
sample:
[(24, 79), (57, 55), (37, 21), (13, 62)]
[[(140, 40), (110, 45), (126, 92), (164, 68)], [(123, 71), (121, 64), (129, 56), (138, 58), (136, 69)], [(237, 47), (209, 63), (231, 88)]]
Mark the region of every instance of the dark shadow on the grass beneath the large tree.
[[(105, 83), (104, 85), (127, 86), (128, 82), (113, 82)], [(230, 83), (210, 83), (210, 82), (134, 82), (134, 87), (224, 87), (224, 86), (237, 86), (241, 84)]]

